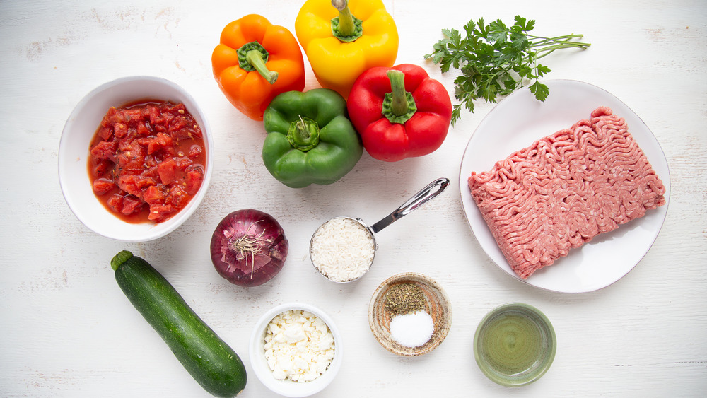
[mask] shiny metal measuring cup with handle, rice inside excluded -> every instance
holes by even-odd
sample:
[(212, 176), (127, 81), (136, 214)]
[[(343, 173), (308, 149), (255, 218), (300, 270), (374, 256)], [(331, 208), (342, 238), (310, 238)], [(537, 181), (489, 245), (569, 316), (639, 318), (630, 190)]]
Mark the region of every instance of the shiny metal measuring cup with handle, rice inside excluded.
[[(445, 188), (449, 185), (449, 179), (448, 178), (438, 178), (437, 180), (434, 180), (431, 182), (429, 185), (421, 189), (420, 192), (417, 192), (414, 194), (413, 197), (408, 199), (404, 204), (402, 204), (400, 207), (395, 209), (392, 213), (387, 215), (385, 218), (382, 218), (382, 220), (378, 221), (378, 223), (373, 224), (373, 226), (368, 226), (366, 223), (361, 220), (361, 218), (351, 218), (351, 217), (334, 217), (327, 221), (326, 223), (323, 223), (317, 230), (315, 230), (315, 233), (312, 234), (312, 239), (310, 240), (310, 260), (312, 261), (312, 265), (314, 268), (319, 272), (322, 276), (325, 278), (329, 279), (329, 281), (334, 281), (337, 283), (349, 283), (353, 281), (357, 281), (358, 279), (361, 278), (361, 276), (365, 275), (366, 272), (368, 272), (368, 269), (370, 269), (370, 266), (373, 264), (373, 259), (375, 257), (375, 252), (378, 250), (378, 244), (375, 242), (375, 234), (380, 232), (383, 228), (390, 226), (393, 221), (396, 221), (399, 218), (402, 218), (402, 216), (405, 216), (406, 214), (410, 213), (411, 211), (414, 211), (417, 209), (419, 206), (422, 206), (425, 204), (427, 201), (430, 199), (433, 199), (436, 197), (438, 194), (441, 194)], [(337, 219), (343, 219), (346, 220), (345, 222), (351, 223), (354, 222), (358, 226), (360, 226), (363, 230), (364, 235), (366, 238), (370, 239), (370, 243), (373, 245), (373, 255), (368, 258), (368, 264), (358, 264), (361, 265), (361, 270), (357, 272), (356, 275), (352, 276), (350, 279), (346, 280), (338, 280), (338, 279), (332, 279), (332, 277), (327, 276), (325, 272), (322, 272), (320, 267), (317, 267), (317, 262), (315, 262), (315, 256), (312, 254), (313, 250), (315, 249), (315, 245), (318, 245), (317, 242), (315, 242), (315, 237), (317, 236), (317, 233), (322, 230), (322, 228), (325, 228), (327, 226), (327, 223), (330, 221), (334, 221)], [(321, 264), (321, 266), (325, 266), (325, 264)]]

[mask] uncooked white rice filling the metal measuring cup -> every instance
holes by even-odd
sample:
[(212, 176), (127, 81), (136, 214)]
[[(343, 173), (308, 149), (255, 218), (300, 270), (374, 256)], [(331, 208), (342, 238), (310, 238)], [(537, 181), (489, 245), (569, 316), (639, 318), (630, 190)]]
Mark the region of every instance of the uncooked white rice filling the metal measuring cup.
[(310, 256), (322, 275), (335, 282), (352, 281), (368, 271), (375, 247), (368, 230), (351, 218), (332, 218), (312, 237)]

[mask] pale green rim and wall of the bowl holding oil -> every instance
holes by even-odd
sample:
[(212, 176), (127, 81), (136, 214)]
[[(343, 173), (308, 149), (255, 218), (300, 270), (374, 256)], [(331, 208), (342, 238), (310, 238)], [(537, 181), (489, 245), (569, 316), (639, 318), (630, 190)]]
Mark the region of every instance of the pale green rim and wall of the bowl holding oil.
[[(488, 365), (485, 366), (486, 362), (481, 359), (481, 353), (479, 353), (479, 344), (481, 344), (481, 341), (479, 341), (479, 335), (481, 334), (481, 330), (483, 329), (486, 322), (489, 322), (491, 318), (496, 317), (497, 315), (508, 310), (521, 310), (523, 312), (532, 313), (540, 320), (540, 322), (542, 322), (541, 328), (544, 327), (544, 329), (547, 330), (547, 334), (549, 334), (549, 344), (551, 351), (547, 358), (547, 363), (542, 368), (538, 368), (538, 370), (536, 370), (532, 377), (519, 378), (518, 381), (514, 380), (513, 377), (500, 377), (496, 373), (491, 372), (491, 370), (487, 368)], [(547, 373), (547, 370), (549, 370), (549, 368), (551, 367), (555, 358), (556, 350), (557, 339), (555, 329), (552, 326), (552, 323), (550, 322), (549, 318), (544, 314), (544, 312), (534, 307), (533, 305), (527, 303), (513, 302), (498, 305), (496, 308), (493, 308), (489, 312), (487, 312), (483, 318), (481, 318), (481, 321), (477, 326), (476, 332), (474, 332), (474, 359), (476, 360), (477, 365), (481, 370), (481, 373), (484, 373), (484, 375), (486, 375), (489, 380), (496, 382), (496, 384), (503, 385), (506, 387), (521, 387), (539, 380), (539, 378), (542, 377), (545, 373)]]

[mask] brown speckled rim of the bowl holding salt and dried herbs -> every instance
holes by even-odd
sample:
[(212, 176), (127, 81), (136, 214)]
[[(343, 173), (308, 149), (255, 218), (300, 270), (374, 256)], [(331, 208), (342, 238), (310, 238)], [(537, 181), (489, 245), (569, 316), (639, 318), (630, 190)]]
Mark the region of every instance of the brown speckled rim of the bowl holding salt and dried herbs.
[[(414, 279), (416, 283), (426, 284), (428, 288), (431, 288), (433, 291), (439, 293), (439, 296), (443, 301), (443, 303), (440, 304), (444, 308), (447, 322), (441, 324), (439, 329), (437, 329), (437, 324), (435, 325), (435, 332), (433, 332), (433, 336), (435, 334), (438, 334), (438, 338), (435, 341), (432, 341), (431, 343), (428, 341), (428, 343), (423, 344), (422, 346), (404, 347), (395, 342), (395, 340), (393, 340), (391, 336), (390, 340), (393, 342), (393, 344), (392, 346), (386, 346), (384, 344), (384, 341), (381, 341), (383, 339), (383, 336), (380, 335), (381, 332), (378, 331), (378, 329), (385, 330), (385, 327), (378, 324), (377, 317), (374, 316), (376, 312), (376, 304), (379, 300), (382, 300), (382, 293), (387, 288), (392, 286), (393, 283), (404, 283), (404, 281), (411, 279)], [(382, 281), (382, 283), (378, 285), (378, 288), (376, 288), (373, 292), (373, 295), (371, 295), (370, 301), (368, 303), (368, 326), (370, 327), (370, 331), (373, 333), (375, 340), (378, 341), (378, 344), (380, 344), (380, 346), (385, 348), (387, 351), (395, 353), (399, 356), (421, 356), (433, 351), (438, 346), (440, 346), (440, 344), (442, 344), (442, 342), (449, 334), (450, 329), (452, 327), (452, 302), (445, 289), (440, 285), (440, 283), (438, 283), (438, 281), (431, 278), (431, 276), (427, 276), (419, 272), (402, 272), (400, 274), (390, 276), (389, 278), (385, 279), (385, 281)]]

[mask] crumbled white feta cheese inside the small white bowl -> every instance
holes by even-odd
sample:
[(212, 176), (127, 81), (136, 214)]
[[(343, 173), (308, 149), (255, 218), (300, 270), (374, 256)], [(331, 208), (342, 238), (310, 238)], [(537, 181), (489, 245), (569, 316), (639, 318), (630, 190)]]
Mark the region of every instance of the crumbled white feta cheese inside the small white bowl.
[(303, 310), (288, 310), (268, 324), (265, 359), (273, 376), (308, 382), (322, 375), (334, 359), (334, 336), (327, 324)]

